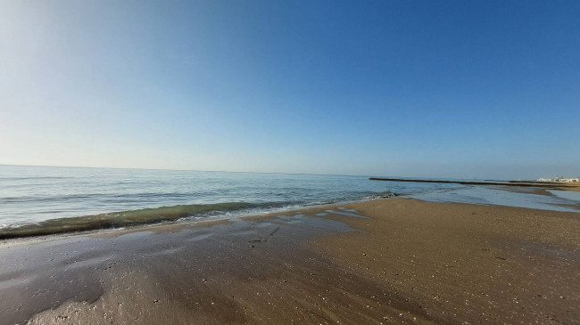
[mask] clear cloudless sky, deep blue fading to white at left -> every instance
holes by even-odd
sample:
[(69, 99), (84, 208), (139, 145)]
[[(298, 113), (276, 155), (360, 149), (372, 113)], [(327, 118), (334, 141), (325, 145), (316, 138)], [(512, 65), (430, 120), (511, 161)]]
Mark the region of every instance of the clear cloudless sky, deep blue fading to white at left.
[(0, 1), (0, 164), (580, 175), (579, 1)]

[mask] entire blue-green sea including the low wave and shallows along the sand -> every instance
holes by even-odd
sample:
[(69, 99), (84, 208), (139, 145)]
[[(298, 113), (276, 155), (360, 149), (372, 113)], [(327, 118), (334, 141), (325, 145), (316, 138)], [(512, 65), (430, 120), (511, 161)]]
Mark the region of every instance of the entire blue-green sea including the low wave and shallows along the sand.
[[(580, 192), (298, 175), (0, 166), (0, 239), (195, 222), (391, 195), (580, 212)], [(392, 177), (392, 176), (390, 176)]]

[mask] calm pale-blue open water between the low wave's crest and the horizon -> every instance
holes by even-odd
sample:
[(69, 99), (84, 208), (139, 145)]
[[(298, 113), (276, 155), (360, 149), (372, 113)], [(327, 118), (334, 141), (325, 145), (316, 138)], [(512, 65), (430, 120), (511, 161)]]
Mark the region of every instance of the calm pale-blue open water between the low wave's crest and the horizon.
[[(176, 206), (193, 206), (191, 216), (265, 212), (435, 188), (450, 186), (365, 176), (0, 166), (0, 227)], [(157, 212), (148, 211), (152, 218)]]

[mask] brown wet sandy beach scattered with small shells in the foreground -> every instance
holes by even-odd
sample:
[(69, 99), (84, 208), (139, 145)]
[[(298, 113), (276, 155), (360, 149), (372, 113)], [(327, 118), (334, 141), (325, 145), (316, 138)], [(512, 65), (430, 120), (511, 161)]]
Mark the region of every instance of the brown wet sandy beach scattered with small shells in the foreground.
[(0, 243), (2, 324), (577, 323), (580, 214), (382, 199)]

